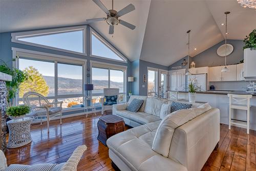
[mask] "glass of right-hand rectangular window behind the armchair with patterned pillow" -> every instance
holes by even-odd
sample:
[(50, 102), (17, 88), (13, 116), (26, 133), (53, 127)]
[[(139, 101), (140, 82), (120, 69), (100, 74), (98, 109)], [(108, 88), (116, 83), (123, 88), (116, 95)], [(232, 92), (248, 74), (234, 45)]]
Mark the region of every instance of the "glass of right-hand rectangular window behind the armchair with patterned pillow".
[(96, 103), (100, 104), (99, 99), (103, 95), (104, 88), (118, 88), (119, 101), (126, 101), (125, 72), (126, 70), (124, 69), (92, 67), (92, 83), (94, 86), (92, 96), (96, 99)]

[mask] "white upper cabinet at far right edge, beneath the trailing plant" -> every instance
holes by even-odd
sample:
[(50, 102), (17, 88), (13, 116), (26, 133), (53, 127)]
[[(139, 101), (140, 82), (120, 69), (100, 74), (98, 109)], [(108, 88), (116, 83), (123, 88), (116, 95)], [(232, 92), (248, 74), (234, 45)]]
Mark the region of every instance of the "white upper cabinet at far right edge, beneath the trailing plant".
[(256, 78), (256, 50), (249, 48), (244, 50), (244, 77), (248, 79)]

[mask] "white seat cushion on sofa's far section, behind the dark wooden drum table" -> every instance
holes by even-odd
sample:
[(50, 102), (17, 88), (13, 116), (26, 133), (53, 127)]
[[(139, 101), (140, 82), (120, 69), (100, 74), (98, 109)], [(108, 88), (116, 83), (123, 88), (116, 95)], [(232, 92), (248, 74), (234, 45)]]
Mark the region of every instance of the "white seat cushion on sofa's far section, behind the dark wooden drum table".
[(120, 110), (120, 111), (116, 111), (115, 115), (126, 118), (126, 119), (130, 119), (140, 124), (145, 124), (145, 123), (150, 123), (150, 122), (155, 122), (160, 120), (160, 117), (147, 114), (145, 112), (130, 112), (126, 110)]

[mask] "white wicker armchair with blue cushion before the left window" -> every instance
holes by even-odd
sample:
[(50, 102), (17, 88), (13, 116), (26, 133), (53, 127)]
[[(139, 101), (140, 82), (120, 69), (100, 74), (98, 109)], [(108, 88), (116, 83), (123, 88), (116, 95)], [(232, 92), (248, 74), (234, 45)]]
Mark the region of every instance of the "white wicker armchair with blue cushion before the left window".
[(47, 120), (47, 131), (49, 132), (49, 122), (55, 116), (62, 116), (62, 101), (50, 103), (44, 96), (36, 92), (28, 92), (23, 95), (24, 104), (30, 106), (31, 112), (27, 115), (34, 120)]

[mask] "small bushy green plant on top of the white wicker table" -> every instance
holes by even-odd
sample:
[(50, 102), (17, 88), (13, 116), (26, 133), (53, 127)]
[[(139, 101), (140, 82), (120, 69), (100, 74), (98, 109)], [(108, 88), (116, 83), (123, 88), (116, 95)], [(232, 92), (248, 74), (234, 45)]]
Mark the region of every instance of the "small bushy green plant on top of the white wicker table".
[(30, 108), (27, 105), (10, 106), (7, 108), (6, 113), (10, 119), (22, 119), (27, 113), (29, 113)]

